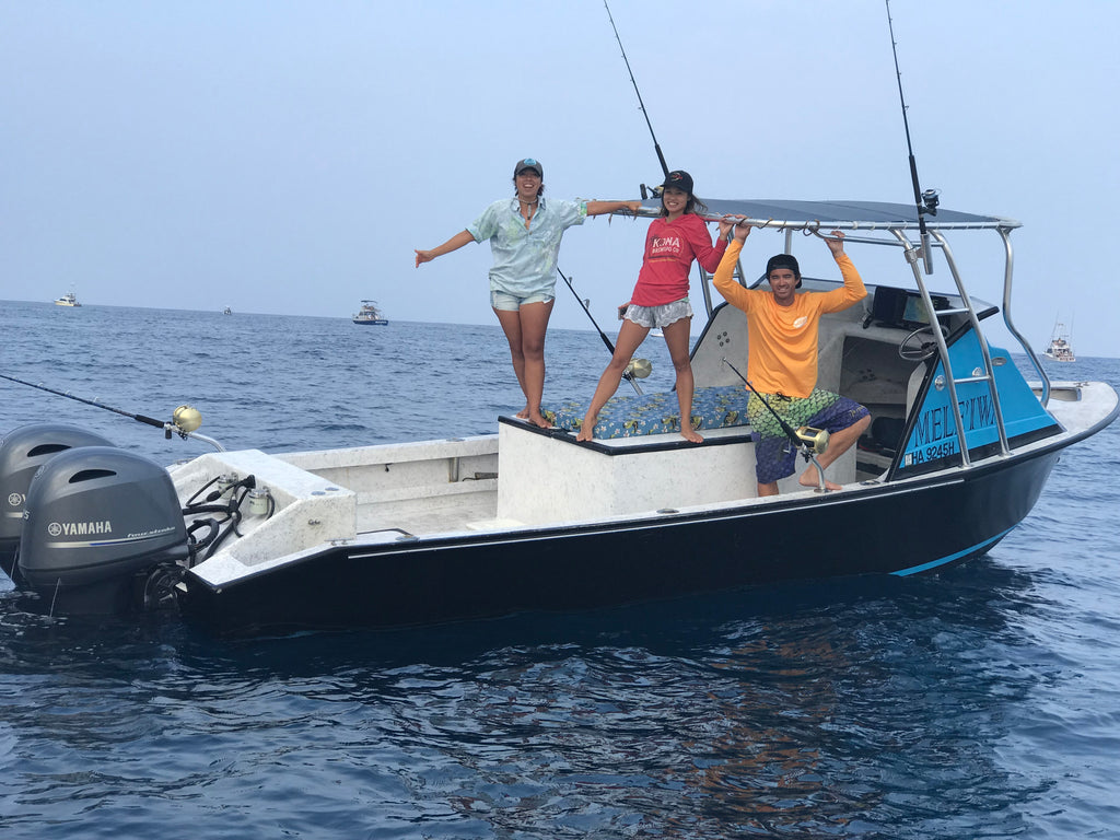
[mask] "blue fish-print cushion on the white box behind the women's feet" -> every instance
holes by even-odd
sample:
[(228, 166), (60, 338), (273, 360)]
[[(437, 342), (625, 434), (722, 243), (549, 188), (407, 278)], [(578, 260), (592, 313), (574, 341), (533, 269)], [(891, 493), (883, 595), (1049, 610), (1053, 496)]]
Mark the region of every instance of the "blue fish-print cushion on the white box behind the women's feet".
[[(629, 388), (622, 385), (620, 388)], [(692, 428), (724, 429), (731, 426), (749, 426), (747, 420), (747, 398), (750, 392), (741, 385), (713, 385), (698, 388), (692, 395)], [(569, 400), (554, 411), (545, 410), (544, 417), (558, 429), (579, 431), (584, 424), (589, 401)], [(638, 396), (618, 393), (613, 396), (595, 424), (595, 437), (633, 438), (640, 435), (664, 435), (681, 430), (681, 409), (676, 392), (662, 391)]]

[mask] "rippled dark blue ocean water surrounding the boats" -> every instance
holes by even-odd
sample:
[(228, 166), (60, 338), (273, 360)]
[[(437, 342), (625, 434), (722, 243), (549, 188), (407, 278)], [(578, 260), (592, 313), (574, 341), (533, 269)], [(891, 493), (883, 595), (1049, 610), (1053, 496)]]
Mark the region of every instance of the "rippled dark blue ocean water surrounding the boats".
[[(520, 408), (496, 325), (0, 302), (0, 373), (190, 403), (228, 448), (488, 433)], [(545, 404), (607, 358), (594, 332), (547, 352)], [(1047, 367), (1120, 385), (1118, 360)], [(44, 419), (161, 463), (208, 449), (0, 380), (0, 432)], [(0, 836), (1120, 837), (1118, 450), (1120, 424), (1067, 450), (1020, 528), (926, 578), (251, 640), (0, 591)]]

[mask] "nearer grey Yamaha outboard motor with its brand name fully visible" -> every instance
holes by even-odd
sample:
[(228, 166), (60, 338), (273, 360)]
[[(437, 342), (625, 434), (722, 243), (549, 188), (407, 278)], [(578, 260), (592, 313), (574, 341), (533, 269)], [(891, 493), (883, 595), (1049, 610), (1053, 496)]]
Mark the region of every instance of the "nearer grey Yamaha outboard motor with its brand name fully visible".
[(19, 571), (52, 614), (132, 613), (174, 597), (190, 552), (175, 485), (155, 461), (104, 446), (60, 452), (25, 510)]

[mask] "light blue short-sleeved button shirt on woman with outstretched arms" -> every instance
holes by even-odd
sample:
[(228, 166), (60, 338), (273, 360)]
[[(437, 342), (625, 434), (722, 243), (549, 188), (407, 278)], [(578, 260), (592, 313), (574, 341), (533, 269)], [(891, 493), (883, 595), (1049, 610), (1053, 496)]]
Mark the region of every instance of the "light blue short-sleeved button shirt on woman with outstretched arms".
[(491, 268), (491, 291), (503, 291), (519, 298), (530, 295), (554, 297), (557, 258), (563, 232), (584, 224), (587, 202), (545, 200), (540, 197), (536, 213), (529, 227), (517, 209), (516, 198), (494, 202), (467, 226), (475, 242), (489, 240), (494, 254)]

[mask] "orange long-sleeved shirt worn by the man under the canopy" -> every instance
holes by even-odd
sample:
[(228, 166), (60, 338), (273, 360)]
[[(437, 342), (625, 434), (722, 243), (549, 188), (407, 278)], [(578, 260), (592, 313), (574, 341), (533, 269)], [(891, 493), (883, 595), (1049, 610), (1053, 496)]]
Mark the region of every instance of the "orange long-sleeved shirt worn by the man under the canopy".
[(837, 265), (843, 288), (799, 292), (790, 306), (774, 302), (768, 289), (744, 289), (734, 278), (741, 242), (731, 242), (716, 269), (713, 282), (729, 304), (747, 316), (747, 379), (767, 394), (805, 398), (816, 386), (816, 344), (821, 316), (839, 312), (867, 297), (864, 281), (848, 254)]

